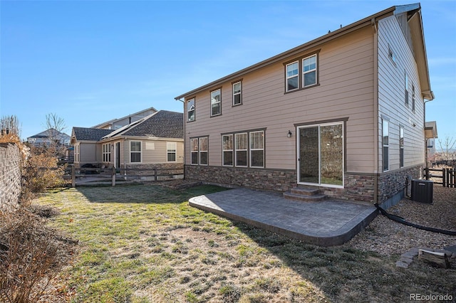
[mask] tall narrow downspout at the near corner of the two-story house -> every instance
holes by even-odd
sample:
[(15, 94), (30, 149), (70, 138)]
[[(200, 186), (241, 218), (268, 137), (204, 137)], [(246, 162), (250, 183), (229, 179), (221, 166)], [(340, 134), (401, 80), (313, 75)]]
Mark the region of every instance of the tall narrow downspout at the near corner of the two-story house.
[(373, 203), (378, 203), (378, 28), (375, 18), (373, 28)]

